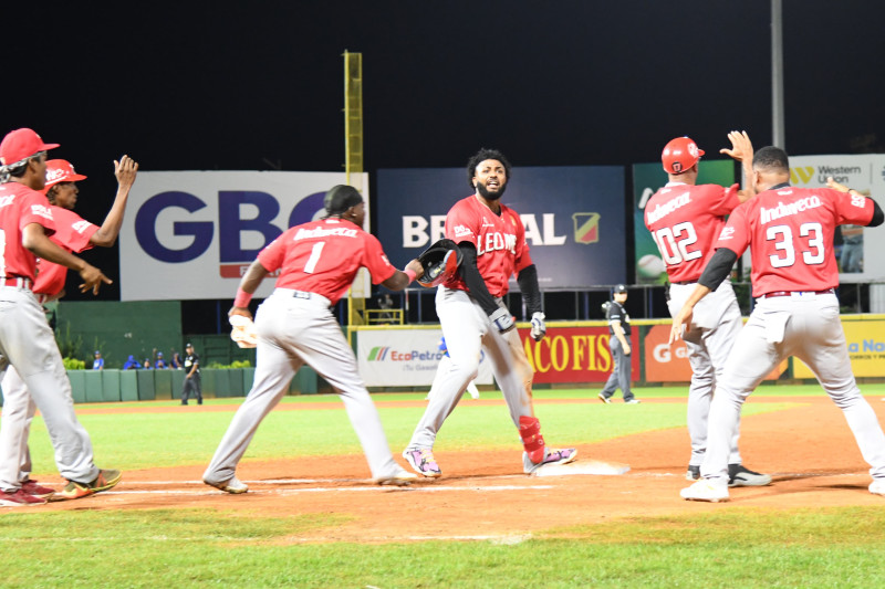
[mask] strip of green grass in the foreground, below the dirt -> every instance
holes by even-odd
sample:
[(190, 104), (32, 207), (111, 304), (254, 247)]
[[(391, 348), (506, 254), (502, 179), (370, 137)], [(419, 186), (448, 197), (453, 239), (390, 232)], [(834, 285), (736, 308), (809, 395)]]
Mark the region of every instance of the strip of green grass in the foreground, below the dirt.
[[(0, 517), (3, 587), (879, 587), (885, 512), (736, 509), (507, 541), (292, 544), (327, 516)], [(40, 558), (34, 558), (39, 554)]]

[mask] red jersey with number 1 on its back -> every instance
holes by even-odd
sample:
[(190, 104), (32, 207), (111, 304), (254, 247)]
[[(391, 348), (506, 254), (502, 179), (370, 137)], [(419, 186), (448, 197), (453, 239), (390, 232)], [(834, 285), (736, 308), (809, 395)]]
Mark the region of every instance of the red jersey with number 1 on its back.
[(394, 275), (375, 235), (337, 218), (295, 225), (258, 254), (269, 272), (282, 269), (278, 288), (322, 295), (334, 305), (347, 292), (356, 272), (365, 266), (373, 284)]

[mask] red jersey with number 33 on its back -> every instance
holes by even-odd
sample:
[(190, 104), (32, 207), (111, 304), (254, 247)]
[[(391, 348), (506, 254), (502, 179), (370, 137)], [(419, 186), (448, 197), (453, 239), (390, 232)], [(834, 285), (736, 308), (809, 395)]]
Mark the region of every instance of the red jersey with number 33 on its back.
[(717, 248), (750, 248), (753, 296), (839, 286), (833, 253), (836, 225), (870, 224), (873, 201), (830, 188), (766, 190), (731, 213)]

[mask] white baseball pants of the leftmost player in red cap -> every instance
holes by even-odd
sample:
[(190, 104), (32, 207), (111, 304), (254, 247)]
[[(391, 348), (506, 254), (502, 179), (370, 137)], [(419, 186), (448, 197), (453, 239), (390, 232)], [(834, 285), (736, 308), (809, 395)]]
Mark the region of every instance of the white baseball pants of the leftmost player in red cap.
[(49, 430), (59, 473), (69, 481), (94, 481), (98, 467), (93, 463), (92, 442), (74, 413), (71, 381), (43, 308), (31, 291), (0, 286), (0, 380), (4, 386), (9, 365), (15, 367), (25, 387), (3, 389), (0, 488), (21, 487), (32, 400)]

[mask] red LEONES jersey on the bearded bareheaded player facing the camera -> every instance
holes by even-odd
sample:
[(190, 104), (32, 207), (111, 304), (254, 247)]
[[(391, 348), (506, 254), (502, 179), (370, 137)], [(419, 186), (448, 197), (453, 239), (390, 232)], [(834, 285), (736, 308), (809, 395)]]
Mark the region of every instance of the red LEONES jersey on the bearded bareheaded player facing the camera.
[[(519, 214), (504, 204), (501, 214), (494, 214), (476, 194), (459, 200), (449, 210), (446, 236), (455, 243), (469, 241), (476, 245), (477, 267), (492, 296), (506, 295), (510, 276), (532, 264)], [(458, 274), (445, 286), (467, 291)]]

